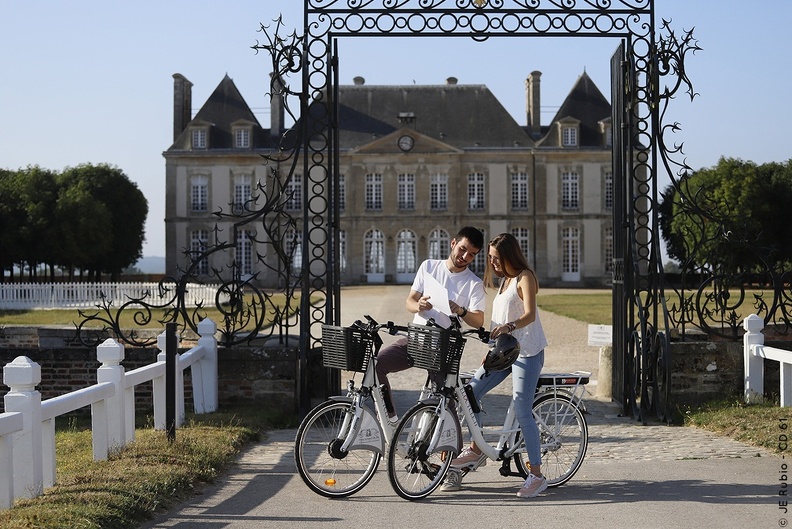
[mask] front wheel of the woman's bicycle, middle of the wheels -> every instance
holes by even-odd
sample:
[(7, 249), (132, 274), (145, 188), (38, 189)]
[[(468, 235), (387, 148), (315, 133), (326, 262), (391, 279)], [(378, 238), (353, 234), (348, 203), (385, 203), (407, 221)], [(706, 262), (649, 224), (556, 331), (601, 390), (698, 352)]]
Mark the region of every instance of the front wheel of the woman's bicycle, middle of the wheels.
[[(410, 408), (396, 426), (388, 447), (388, 479), (393, 490), (405, 500), (419, 500), (434, 492), (451, 465), (449, 447), (427, 451), (439, 421), (436, 410), (437, 404), (431, 403), (418, 403)], [(462, 432), (458, 421), (456, 428), (459, 437)]]

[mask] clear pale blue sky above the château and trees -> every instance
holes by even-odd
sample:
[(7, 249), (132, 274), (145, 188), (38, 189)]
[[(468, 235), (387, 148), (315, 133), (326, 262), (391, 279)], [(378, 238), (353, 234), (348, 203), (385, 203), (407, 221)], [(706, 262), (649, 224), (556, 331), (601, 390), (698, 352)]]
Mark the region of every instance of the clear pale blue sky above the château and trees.
[[(686, 59), (698, 96), (672, 103), (668, 123), (688, 165), (722, 156), (792, 158), (792, 59), (779, 44), (789, 0), (656, 0), (657, 24), (694, 28)], [(282, 15), (302, 33), (302, 0), (0, 0), (0, 167), (119, 167), (149, 204), (143, 255), (165, 255), (165, 159), (173, 140), (173, 74), (193, 83), (193, 115), (227, 74), (269, 127), (269, 57), (251, 48)], [(274, 27), (274, 26), (272, 26)], [(288, 31), (287, 31), (288, 30)], [(610, 98), (610, 37), (340, 39), (342, 84), (484, 84), (521, 125), (524, 82), (542, 72), (542, 124), (584, 71)], [(293, 82), (297, 82), (294, 80)]]

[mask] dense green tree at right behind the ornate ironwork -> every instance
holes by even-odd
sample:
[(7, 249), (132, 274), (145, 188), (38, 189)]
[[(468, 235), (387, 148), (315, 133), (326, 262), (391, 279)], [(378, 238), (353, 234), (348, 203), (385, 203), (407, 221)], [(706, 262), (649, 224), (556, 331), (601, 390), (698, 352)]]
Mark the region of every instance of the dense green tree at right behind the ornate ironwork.
[(682, 268), (751, 272), (792, 261), (792, 166), (721, 158), (663, 193), (660, 227)]

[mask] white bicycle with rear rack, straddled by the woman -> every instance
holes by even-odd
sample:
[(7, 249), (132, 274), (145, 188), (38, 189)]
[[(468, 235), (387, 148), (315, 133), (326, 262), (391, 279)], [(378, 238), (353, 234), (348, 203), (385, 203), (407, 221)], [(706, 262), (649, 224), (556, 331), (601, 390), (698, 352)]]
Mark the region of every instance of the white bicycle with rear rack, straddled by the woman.
[[(412, 325), (410, 332), (426, 335), (409, 342), (415, 345), (411, 354), (416, 365), (434, 365), (446, 374), (446, 380), (429, 398), (410, 408), (396, 426), (388, 449), (388, 479), (396, 493), (407, 500), (418, 500), (430, 495), (443, 482), (451, 460), (462, 449), (462, 423), (454, 408), (459, 410), (482, 454), (503, 462), (499, 469), (502, 476), (526, 478), (530, 465), (513, 403), (503, 427), (492, 432), (498, 435), (497, 443), (489, 444), (484, 429), (478, 427), (475, 420), (474, 413), (479, 409), (472, 398), (472, 389), (462, 382), (465, 376), (458, 374), (458, 358), (452, 360), (447, 356), (461, 355), (463, 334), (478, 333), (479, 338), (486, 341), (489, 333), (483, 329), (460, 332), (433, 326), (418, 329)], [(542, 474), (550, 487), (569, 481), (585, 458), (588, 424), (581, 407), (590, 376), (591, 373), (582, 371), (543, 373), (537, 384), (533, 416), (540, 431)], [(511, 460), (517, 467), (516, 473), (511, 471)], [(464, 475), (482, 462), (479, 460), (458, 471)]]

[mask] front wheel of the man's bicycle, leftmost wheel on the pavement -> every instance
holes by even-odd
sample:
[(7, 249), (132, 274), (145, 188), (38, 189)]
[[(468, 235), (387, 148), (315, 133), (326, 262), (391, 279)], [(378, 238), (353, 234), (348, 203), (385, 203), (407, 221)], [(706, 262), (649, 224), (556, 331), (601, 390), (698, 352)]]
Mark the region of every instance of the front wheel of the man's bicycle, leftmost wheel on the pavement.
[(354, 414), (349, 401), (320, 404), (303, 419), (294, 439), (294, 462), (308, 487), (328, 498), (350, 496), (374, 477), (382, 455), (369, 449), (342, 451)]

